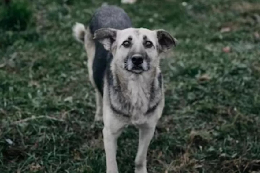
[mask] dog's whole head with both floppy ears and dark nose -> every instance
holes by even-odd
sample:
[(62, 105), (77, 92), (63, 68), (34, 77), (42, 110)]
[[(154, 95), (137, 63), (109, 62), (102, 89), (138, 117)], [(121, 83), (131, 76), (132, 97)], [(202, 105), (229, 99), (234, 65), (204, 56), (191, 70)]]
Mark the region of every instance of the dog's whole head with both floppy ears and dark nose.
[(136, 74), (158, 67), (159, 55), (177, 43), (165, 30), (145, 28), (102, 28), (95, 31), (94, 39), (112, 53), (115, 66)]

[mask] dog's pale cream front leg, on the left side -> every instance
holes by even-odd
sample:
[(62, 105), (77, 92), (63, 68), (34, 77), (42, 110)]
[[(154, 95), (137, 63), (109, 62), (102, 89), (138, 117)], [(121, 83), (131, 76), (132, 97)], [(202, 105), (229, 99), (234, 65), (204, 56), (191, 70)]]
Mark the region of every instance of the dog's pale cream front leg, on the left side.
[(122, 133), (125, 124), (115, 117), (104, 114), (103, 138), (106, 153), (106, 173), (118, 173), (116, 153), (117, 139)]

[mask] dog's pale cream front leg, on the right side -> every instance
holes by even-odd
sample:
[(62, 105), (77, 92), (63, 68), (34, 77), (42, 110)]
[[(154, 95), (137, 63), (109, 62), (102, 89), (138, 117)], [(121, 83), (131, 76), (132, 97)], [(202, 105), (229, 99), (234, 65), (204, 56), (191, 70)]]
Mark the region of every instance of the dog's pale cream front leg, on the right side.
[(147, 173), (146, 157), (151, 139), (153, 138), (156, 123), (145, 124), (139, 127), (138, 151), (135, 159), (135, 173)]

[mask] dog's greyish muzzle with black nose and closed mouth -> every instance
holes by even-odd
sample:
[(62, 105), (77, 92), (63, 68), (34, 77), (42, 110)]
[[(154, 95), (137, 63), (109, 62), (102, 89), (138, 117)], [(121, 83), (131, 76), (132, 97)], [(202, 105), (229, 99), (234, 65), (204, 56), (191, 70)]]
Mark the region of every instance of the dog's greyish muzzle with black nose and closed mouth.
[(134, 54), (128, 57), (125, 62), (125, 69), (133, 73), (142, 73), (149, 70), (147, 58), (141, 54)]

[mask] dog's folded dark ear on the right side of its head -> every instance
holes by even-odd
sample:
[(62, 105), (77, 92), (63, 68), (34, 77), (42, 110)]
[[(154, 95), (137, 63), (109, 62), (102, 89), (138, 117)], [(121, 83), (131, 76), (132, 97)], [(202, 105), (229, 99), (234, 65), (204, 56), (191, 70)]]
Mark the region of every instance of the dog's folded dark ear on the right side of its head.
[(176, 38), (172, 37), (167, 31), (163, 29), (156, 30), (158, 43), (160, 45), (160, 52), (166, 52), (171, 49), (173, 46), (175, 47), (178, 44)]

